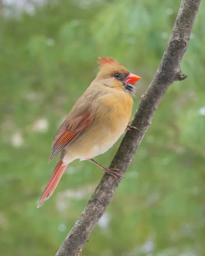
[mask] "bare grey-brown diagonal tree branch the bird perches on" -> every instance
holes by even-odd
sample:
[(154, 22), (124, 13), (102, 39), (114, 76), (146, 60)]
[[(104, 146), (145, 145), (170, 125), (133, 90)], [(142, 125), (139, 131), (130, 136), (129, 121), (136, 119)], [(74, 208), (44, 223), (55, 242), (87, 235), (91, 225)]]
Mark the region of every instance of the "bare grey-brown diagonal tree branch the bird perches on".
[[(188, 47), (191, 29), (199, 10), (201, 0), (182, 0), (179, 13), (167, 43), (159, 68), (147, 91), (141, 96), (139, 107), (131, 125), (139, 130), (127, 131), (110, 168), (121, 169), (124, 175), (130, 166), (134, 154), (150, 126), (154, 112), (161, 102), (168, 87), (174, 81), (181, 81), (187, 76), (180, 70), (180, 62)], [(104, 214), (113, 195), (121, 182), (120, 178), (105, 174), (81, 216), (76, 221), (56, 256), (79, 256), (88, 236)]]

